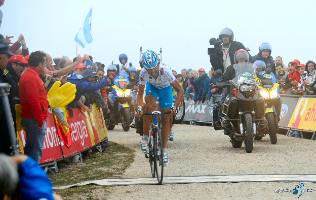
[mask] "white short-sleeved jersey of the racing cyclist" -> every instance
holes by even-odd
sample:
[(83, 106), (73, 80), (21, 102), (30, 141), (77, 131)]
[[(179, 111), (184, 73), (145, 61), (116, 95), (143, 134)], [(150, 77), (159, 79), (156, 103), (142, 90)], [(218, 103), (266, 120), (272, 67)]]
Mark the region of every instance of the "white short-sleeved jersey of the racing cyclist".
[(168, 87), (170, 83), (174, 82), (176, 80), (176, 77), (172, 74), (171, 69), (167, 64), (160, 63), (159, 76), (157, 80), (149, 75), (146, 68), (143, 68), (140, 71), (139, 80), (139, 84), (141, 85), (145, 85), (146, 82), (148, 82), (157, 89), (162, 89)]

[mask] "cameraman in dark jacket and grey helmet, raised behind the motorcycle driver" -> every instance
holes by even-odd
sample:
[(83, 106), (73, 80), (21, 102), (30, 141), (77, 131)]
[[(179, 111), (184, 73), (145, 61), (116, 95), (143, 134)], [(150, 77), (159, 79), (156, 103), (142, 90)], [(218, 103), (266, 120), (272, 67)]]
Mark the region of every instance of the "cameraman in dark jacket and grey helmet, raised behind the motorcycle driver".
[[(235, 52), (239, 49), (246, 50), (242, 43), (233, 41), (233, 38), (233, 32), (229, 28), (224, 28), (219, 32), (219, 39), (223, 42), (223, 44), (219, 46), (221, 51), (215, 55), (210, 55), (210, 62), (215, 70), (220, 69), (224, 72), (229, 65), (234, 64)], [(252, 62), (250, 54), (249, 57), (249, 62)]]

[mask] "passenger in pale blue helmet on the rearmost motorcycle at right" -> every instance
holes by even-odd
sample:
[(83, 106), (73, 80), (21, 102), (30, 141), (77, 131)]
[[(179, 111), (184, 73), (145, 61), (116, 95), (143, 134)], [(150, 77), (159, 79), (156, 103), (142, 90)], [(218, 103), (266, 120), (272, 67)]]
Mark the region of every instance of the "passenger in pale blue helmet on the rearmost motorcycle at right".
[(272, 47), (269, 43), (262, 43), (259, 46), (259, 53), (252, 57), (253, 61), (263, 60), (267, 68), (271, 68), (275, 76), (275, 61), (271, 56)]

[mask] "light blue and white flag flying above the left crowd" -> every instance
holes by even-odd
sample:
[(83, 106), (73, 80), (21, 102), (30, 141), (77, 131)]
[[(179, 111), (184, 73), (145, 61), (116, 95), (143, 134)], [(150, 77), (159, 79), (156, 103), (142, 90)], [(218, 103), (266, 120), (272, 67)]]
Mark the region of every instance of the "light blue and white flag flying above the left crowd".
[(92, 42), (91, 14), (92, 14), (92, 9), (90, 9), (90, 11), (85, 19), (84, 27), (80, 28), (79, 32), (74, 37), (74, 41), (76, 41), (83, 48), (85, 48), (89, 43)]

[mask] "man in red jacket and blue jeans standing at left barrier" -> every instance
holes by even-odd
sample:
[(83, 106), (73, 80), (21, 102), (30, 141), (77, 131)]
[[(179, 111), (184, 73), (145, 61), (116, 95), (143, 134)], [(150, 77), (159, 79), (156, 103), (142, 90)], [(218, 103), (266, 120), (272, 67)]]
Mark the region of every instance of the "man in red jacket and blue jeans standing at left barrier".
[(45, 85), (39, 75), (45, 72), (46, 54), (43, 51), (32, 52), (28, 68), (20, 80), (20, 101), (22, 122), (25, 127), (26, 144), (24, 154), (39, 163), (43, 155), (48, 116), (48, 100)]

